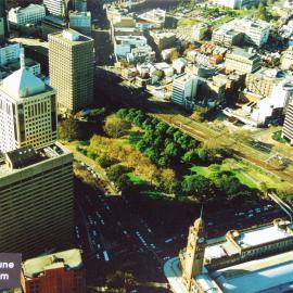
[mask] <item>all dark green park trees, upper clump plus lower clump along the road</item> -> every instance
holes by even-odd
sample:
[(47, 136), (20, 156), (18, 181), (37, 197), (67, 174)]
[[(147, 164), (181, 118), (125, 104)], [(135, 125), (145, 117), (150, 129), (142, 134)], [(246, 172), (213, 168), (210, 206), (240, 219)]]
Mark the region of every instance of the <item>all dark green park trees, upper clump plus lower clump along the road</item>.
[[(222, 201), (235, 203), (245, 200), (255, 201), (257, 191), (242, 184), (231, 171), (220, 169), (221, 161), (230, 155), (217, 144), (201, 144), (178, 129), (149, 116), (140, 110), (120, 109), (116, 115), (144, 132), (136, 140), (136, 148), (148, 156), (153, 164), (166, 169), (161, 173), (158, 188), (177, 195), (191, 195), (201, 202)], [(211, 176), (192, 173), (187, 175), (192, 165), (209, 165)], [(177, 174), (175, 174), (174, 169)], [(165, 179), (162, 180), (162, 177)]]

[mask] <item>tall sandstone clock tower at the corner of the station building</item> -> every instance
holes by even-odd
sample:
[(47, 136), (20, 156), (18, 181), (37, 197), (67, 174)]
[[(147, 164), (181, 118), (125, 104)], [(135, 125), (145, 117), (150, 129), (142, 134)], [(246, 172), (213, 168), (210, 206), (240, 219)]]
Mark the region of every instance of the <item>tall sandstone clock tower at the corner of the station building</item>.
[(205, 243), (205, 227), (201, 215), (189, 228), (188, 244), (181, 263), (182, 280), (188, 291), (193, 277), (202, 273)]

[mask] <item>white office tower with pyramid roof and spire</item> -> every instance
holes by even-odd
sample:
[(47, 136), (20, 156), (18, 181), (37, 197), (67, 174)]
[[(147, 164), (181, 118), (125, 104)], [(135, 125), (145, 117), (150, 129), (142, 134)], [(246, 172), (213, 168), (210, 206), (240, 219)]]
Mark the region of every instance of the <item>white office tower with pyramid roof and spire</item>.
[(56, 140), (55, 91), (25, 68), (0, 84), (0, 151), (22, 146), (41, 148)]

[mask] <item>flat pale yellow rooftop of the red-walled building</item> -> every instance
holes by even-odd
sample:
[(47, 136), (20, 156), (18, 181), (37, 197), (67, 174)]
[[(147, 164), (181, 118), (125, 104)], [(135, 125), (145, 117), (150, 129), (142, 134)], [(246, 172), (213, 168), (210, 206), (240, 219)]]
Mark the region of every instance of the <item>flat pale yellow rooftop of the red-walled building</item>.
[(27, 259), (22, 268), (26, 278), (36, 278), (54, 268), (79, 269), (82, 267), (81, 251), (74, 249)]

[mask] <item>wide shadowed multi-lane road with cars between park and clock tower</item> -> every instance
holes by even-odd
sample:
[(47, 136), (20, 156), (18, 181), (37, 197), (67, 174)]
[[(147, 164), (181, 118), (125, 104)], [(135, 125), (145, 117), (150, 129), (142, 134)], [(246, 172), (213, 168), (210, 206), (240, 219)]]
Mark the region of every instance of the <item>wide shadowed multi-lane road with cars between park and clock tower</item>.
[[(94, 173), (85, 162), (78, 164), (88, 171), (88, 176), (95, 179)], [(76, 241), (85, 252), (89, 285), (105, 285), (109, 273), (122, 270), (132, 272), (137, 282), (145, 286), (145, 291), (139, 292), (150, 292), (150, 286), (151, 292), (155, 292), (155, 288), (166, 289), (167, 282), (162, 271), (164, 263), (178, 255), (186, 245), (188, 226), (173, 231), (173, 234), (165, 232), (164, 225), (157, 230), (138, 214), (127, 199), (105, 195), (98, 183), (97, 180), (94, 189), (80, 186), (76, 189)], [(208, 238), (214, 238), (224, 235), (229, 229), (268, 222), (284, 214), (264, 202), (250, 209), (240, 207), (239, 211), (225, 209), (204, 216)], [(173, 215), (161, 217), (164, 220)]]

